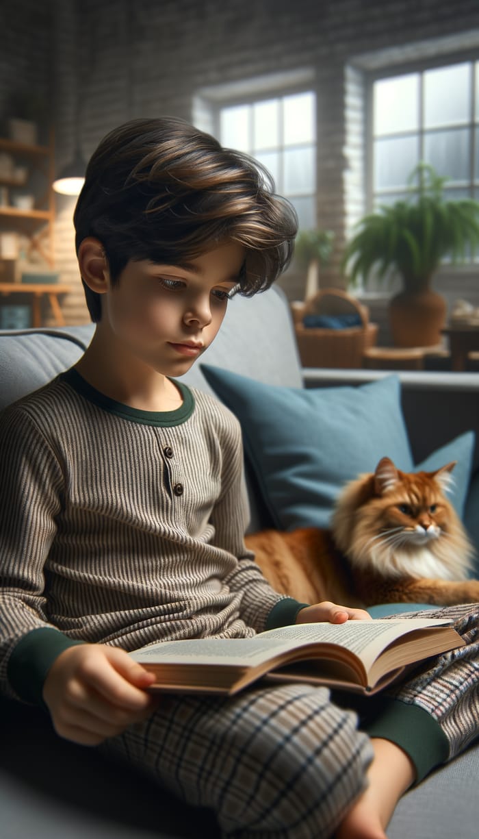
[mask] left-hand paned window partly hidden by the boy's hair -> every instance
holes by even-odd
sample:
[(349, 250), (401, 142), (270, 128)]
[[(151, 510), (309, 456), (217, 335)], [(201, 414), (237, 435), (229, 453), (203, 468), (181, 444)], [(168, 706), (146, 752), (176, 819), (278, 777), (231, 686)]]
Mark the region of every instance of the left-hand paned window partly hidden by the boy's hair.
[(316, 117), (312, 91), (218, 109), (221, 144), (253, 155), (294, 205), (303, 230), (316, 226)]

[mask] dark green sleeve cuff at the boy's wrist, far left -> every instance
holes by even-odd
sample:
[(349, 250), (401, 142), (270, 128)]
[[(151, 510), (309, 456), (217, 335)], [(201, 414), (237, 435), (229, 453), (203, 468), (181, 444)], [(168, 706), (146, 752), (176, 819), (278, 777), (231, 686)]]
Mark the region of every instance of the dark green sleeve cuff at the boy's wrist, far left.
[(8, 681), (17, 696), (44, 706), (44, 680), (51, 665), (65, 649), (83, 643), (50, 627), (33, 629), (23, 635), (8, 659)]

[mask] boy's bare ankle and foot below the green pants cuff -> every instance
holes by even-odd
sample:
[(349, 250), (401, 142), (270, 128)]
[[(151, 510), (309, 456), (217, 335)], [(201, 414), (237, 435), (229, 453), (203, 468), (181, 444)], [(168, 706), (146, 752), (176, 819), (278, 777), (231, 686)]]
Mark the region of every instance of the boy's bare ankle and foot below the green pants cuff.
[(367, 770), (369, 785), (337, 828), (336, 839), (386, 839), (394, 808), (414, 781), (414, 765), (395, 743), (372, 737), (374, 758)]

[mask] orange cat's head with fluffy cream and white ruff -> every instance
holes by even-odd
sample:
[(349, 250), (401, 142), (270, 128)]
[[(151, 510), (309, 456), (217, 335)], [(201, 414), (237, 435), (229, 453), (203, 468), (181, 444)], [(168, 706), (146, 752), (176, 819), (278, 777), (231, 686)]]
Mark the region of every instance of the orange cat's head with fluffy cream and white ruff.
[(382, 575), (461, 579), (470, 546), (445, 498), (454, 466), (400, 472), (383, 457), (376, 472), (351, 482), (338, 499), (333, 534), (339, 549), (357, 567)]

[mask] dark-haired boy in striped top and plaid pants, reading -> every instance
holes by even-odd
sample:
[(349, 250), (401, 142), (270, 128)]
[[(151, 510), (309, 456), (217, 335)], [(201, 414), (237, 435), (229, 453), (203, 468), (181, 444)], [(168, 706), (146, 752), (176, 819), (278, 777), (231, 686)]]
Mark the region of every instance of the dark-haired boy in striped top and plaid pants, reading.
[[(463, 711), (477, 690), (471, 607), (458, 623), (467, 646), (380, 702), (372, 740), (309, 685), (153, 699), (153, 677), (126, 652), (368, 617), (271, 589), (243, 544), (237, 422), (175, 381), (232, 294), (267, 288), (288, 263), (294, 214), (249, 159), (165, 118), (104, 138), (75, 229), (95, 335), (0, 428), (3, 692), (46, 706), (61, 736), (212, 807), (225, 836), (385, 836), (404, 789), (476, 736)], [(438, 719), (446, 671), (456, 695)]]

